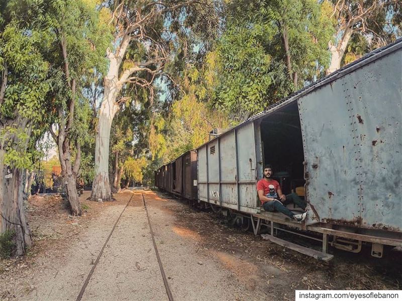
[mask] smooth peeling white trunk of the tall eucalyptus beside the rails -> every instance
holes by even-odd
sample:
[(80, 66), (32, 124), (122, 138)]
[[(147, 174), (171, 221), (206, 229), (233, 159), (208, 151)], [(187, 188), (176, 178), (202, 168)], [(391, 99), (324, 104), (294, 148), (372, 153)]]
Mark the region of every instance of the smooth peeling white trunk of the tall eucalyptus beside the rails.
[(99, 109), (99, 120), (96, 131), (95, 143), (95, 177), (92, 183), (91, 200), (102, 199), (112, 201), (112, 191), (109, 183), (109, 144), (112, 121), (119, 111), (116, 103), (121, 85), (118, 81), (120, 62), (110, 57), (108, 75), (104, 80), (104, 100)]

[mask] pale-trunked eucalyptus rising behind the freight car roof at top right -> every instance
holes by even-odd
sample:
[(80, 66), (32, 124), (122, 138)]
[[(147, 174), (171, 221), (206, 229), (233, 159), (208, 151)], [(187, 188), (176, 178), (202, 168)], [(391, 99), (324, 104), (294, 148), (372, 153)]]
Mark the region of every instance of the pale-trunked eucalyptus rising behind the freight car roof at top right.
[(332, 0), (331, 4), (330, 17), (336, 31), (328, 42), (331, 63), (327, 74), (341, 67), (345, 53), (349, 52), (349, 42), (353, 41), (353, 46), (358, 44), (357, 48), (363, 47), (360, 52), (364, 54), (392, 42), (401, 34), (400, 0)]

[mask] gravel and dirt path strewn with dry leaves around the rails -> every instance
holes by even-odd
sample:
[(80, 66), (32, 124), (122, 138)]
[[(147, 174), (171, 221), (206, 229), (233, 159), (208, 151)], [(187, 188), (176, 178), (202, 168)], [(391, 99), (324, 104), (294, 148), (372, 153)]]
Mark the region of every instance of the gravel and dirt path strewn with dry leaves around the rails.
[(84, 194), (87, 212), (79, 218), (69, 217), (60, 199), (31, 200), (36, 243), (23, 259), (0, 261), (0, 299), (75, 300), (132, 197), (82, 300), (167, 300), (142, 193), (175, 300), (292, 300), (294, 289), (400, 289), (400, 252), (381, 260), (338, 252), (322, 263), (230, 228), (211, 212), (138, 191), (100, 204)]

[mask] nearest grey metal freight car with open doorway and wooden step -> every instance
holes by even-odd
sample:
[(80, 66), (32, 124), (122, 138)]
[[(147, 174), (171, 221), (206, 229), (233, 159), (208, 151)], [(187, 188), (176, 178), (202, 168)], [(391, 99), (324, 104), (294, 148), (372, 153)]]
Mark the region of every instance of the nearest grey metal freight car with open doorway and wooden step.
[[(250, 222), (255, 234), (265, 225), (267, 239), (316, 258), (332, 258), (329, 244), (359, 252), (362, 242), (381, 257), (383, 245), (402, 246), (401, 106), (399, 39), (198, 147), (198, 201)], [(306, 199), (304, 222), (260, 207), (265, 164), (285, 194)], [(322, 252), (277, 231), (319, 233)]]

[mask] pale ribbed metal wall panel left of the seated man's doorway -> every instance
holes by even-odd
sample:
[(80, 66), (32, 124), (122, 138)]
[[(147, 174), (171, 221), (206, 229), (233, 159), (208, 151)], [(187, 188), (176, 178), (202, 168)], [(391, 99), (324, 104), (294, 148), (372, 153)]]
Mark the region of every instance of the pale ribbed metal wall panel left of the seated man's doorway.
[(255, 212), (256, 147), (261, 144), (256, 146), (254, 123), (249, 122), (198, 148), (199, 200)]

